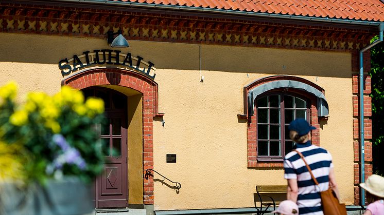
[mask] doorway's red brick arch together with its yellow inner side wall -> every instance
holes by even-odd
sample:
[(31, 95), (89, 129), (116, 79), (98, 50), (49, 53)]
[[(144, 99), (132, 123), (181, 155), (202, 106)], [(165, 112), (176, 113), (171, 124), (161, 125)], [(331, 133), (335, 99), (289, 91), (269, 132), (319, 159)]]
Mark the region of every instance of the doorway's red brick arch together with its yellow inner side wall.
[[(158, 112), (158, 85), (143, 74), (117, 68), (97, 68), (83, 71), (63, 80), (62, 85), (72, 86), (79, 90), (90, 87), (109, 88), (128, 96), (128, 117), (126, 119), (128, 124), (128, 148), (130, 150), (127, 156), (127, 172), (130, 173), (126, 174), (129, 181), (129, 183), (127, 181), (128, 203), (126, 201), (126, 205), (153, 204), (153, 178), (145, 179), (143, 175), (146, 169), (153, 169), (153, 118), (163, 115)], [(133, 91), (137, 94), (132, 94)], [(136, 106), (132, 106), (130, 101), (134, 102)], [(113, 129), (111, 128), (113, 123), (109, 124), (109, 126), (110, 129)], [(131, 137), (130, 133), (134, 134), (134, 138)], [(103, 137), (113, 139), (113, 136)], [(113, 148), (113, 140), (109, 144), (112, 144), (110, 147)], [(132, 152), (130, 144), (139, 145), (141, 148), (137, 148), (135, 152)], [(134, 162), (130, 162), (130, 159), (132, 159), (130, 153), (137, 156)], [(134, 171), (130, 171), (130, 168)], [(108, 175), (105, 177), (108, 177)], [(110, 179), (113, 181), (113, 177)], [(97, 207), (100, 208), (101, 205)]]

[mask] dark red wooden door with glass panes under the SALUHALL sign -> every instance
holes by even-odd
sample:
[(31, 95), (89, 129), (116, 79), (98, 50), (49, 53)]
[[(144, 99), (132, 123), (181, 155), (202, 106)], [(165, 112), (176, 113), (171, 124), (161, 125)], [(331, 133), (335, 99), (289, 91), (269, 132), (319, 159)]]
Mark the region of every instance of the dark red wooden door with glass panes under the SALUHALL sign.
[(96, 125), (106, 155), (104, 170), (95, 182), (95, 207), (128, 206), (127, 97), (105, 88), (83, 90), (85, 96), (100, 97), (105, 118)]

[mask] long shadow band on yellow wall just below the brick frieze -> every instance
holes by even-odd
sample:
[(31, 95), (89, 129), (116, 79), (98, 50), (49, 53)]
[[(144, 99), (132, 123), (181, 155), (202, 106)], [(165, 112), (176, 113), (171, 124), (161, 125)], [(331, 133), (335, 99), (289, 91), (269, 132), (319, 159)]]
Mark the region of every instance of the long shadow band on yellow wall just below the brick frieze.
[[(84, 51), (111, 49), (104, 38), (0, 33), (0, 39), (0, 50), (13, 50), (0, 53), (0, 63), (58, 65), (60, 60), (80, 56)], [(348, 52), (145, 41), (130, 41), (130, 48), (118, 50), (133, 57), (142, 56), (156, 69), (351, 77)]]

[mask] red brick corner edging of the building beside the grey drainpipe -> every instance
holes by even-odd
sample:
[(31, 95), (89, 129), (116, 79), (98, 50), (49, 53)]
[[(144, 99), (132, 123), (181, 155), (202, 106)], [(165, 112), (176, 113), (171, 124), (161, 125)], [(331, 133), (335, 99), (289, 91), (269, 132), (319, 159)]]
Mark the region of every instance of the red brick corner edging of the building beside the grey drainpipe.
[[(365, 64), (366, 59), (370, 60), (370, 54), (364, 53), (364, 71), (369, 71), (370, 66)], [(363, 110), (364, 110), (364, 178), (372, 175), (372, 101), (369, 94), (371, 93), (371, 76), (364, 75), (363, 78)], [(360, 204), (360, 112), (359, 112), (359, 75), (352, 75), (352, 92), (353, 92), (353, 148), (354, 148), (354, 192), (355, 205)]]

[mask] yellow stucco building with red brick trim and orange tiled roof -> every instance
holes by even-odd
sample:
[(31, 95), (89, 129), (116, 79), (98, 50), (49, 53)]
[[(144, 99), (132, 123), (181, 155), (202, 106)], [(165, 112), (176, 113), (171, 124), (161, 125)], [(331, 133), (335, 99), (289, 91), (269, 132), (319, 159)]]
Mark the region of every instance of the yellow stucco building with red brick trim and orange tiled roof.
[[(1, 1), (0, 84), (103, 98), (116, 150), (98, 209), (252, 208), (256, 185), (286, 184), (295, 118), (333, 155), (341, 201), (359, 205), (359, 50), (384, 22), (382, 2), (362, 2)], [(107, 43), (118, 30), (129, 48)], [(369, 69), (366, 51), (365, 177)]]

